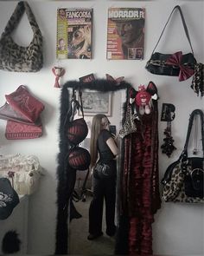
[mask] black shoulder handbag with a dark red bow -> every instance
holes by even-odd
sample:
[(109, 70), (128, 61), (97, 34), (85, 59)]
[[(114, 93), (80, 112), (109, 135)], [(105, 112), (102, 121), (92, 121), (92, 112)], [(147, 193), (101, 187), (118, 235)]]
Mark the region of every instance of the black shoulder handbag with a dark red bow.
[[(161, 40), (163, 36), (163, 32), (169, 23), (169, 20), (175, 10), (178, 10), (182, 17), (182, 24), (185, 30), (185, 34), (188, 39), (188, 43), (190, 45), (191, 51), (188, 54), (182, 54), (182, 51), (175, 52), (174, 54), (163, 54), (160, 52), (155, 52), (156, 46)], [(175, 8), (171, 11), (169, 19), (165, 24), (162, 34), (159, 37), (158, 42), (156, 43), (155, 48), (150, 56), (150, 60), (146, 63), (145, 69), (147, 69), (150, 73), (156, 75), (171, 75), (171, 76), (179, 76), (179, 81), (187, 80), (190, 76), (194, 75), (194, 65), (196, 64), (196, 60), (194, 58), (194, 50), (190, 41), (190, 36), (188, 33), (188, 28), (182, 14), (182, 9), (179, 5), (176, 5)]]

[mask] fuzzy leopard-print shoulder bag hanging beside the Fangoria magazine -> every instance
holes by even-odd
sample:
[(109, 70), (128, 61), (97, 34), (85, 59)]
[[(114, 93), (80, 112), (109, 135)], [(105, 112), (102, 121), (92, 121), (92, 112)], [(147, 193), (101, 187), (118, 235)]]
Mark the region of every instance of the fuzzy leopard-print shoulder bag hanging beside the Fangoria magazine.
[[(11, 33), (16, 29), (23, 13), (26, 13), (34, 36), (29, 46), (22, 47), (14, 42)], [(42, 67), (42, 36), (35, 16), (27, 2), (16, 5), (0, 38), (0, 69), (16, 72), (36, 72)]]

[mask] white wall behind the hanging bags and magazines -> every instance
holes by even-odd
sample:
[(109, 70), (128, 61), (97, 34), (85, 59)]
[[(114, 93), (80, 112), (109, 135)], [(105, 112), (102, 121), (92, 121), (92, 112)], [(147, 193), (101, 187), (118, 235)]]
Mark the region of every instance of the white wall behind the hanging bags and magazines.
[[(163, 25), (175, 4), (180, 4), (186, 17), (192, 40), (194, 55), (198, 62), (204, 62), (204, 4), (203, 1), (29, 1), (44, 36), (44, 66), (40, 72), (32, 74), (0, 71), (0, 104), (5, 102), (4, 95), (13, 92), (19, 85), (29, 90), (45, 104), (41, 117), (44, 135), (35, 140), (8, 141), (4, 137), (6, 122), (0, 120), (0, 154), (35, 154), (46, 176), (41, 179), (41, 187), (30, 196), (29, 202), (29, 253), (54, 253), (54, 232), (56, 218), (56, 156), (59, 152), (59, 107), (61, 89), (54, 88), (52, 67), (57, 64), (55, 58), (56, 9), (58, 7), (93, 8), (93, 58), (92, 60), (64, 60), (59, 62), (66, 69), (61, 82), (78, 80), (82, 75), (94, 73), (105, 78), (105, 73), (114, 77), (125, 76), (137, 89), (139, 84), (147, 85), (150, 80), (158, 88), (159, 109), (163, 102), (175, 104), (175, 121), (172, 122), (172, 134), (177, 150), (168, 158), (160, 150), (160, 177), (163, 177), (169, 163), (175, 161), (181, 153), (188, 126), (188, 116), (194, 108), (204, 110), (204, 100), (190, 89), (191, 79), (178, 82), (177, 77), (151, 75), (144, 69), (150, 58)], [(0, 33), (16, 6), (13, 1), (0, 2)], [(106, 15), (108, 7), (144, 7), (146, 9), (145, 49), (143, 61), (107, 61)], [(28, 44), (32, 33), (27, 29), (26, 18), (16, 31), (16, 42)], [(158, 50), (173, 53), (177, 50), (187, 53), (190, 49), (182, 29), (179, 16), (174, 16), (167, 33), (159, 44)], [(115, 101), (119, 102), (119, 100)], [(112, 117), (112, 122), (118, 120)], [(160, 144), (163, 143), (165, 122), (159, 122)], [(203, 207), (201, 205), (163, 203), (156, 213), (153, 225), (153, 249), (156, 254), (199, 255), (204, 253)]]

